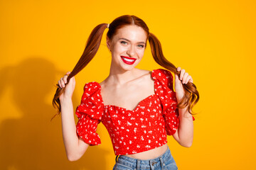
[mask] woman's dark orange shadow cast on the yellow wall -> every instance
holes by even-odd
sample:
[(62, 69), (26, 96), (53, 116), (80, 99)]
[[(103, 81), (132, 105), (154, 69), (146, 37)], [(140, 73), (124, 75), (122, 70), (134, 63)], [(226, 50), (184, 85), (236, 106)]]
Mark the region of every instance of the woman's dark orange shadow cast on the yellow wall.
[(4, 80), (0, 84), (0, 97), (9, 86), (11, 103), (22, 115), (20, 119), (4, 120), (0, 125), (0, 169), (108, 169), (107, 152), (96, 146), (89, 147), (78, 162), (66, 158), (60, 117), (50, 122), (56, 112), (46, 103), (46, 95), (54, 95), (49, 93), (55, 91), (55, 79), (60, 74), (65, 72), (60, 73), (53, 63), (40, 57), (0, 70)]

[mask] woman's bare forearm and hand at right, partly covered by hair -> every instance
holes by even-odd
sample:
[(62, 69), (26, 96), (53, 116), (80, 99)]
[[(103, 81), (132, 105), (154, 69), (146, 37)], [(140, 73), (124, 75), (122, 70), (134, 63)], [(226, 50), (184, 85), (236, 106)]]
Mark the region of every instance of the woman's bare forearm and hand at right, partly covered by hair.
[[(175, 75), (175, 90), (176, 90), (176, 98), (178, 103), (181, 101), (181, 98), (184, 95), (184, 90), (182, 84), (187, 84), (188, 81), (193, 82), (191, 76), (185, 72), (184, 69), (181, 70), (181, 67), (177, 68), (177, 71), (181, 71), (180, 77)], [(193, 118), (190, 113), (188, 113), (188, 109), (186, 108), (178, 108), (178, 117), (179, 117), (179, 125), (178, 129), (174, 133), (174, 139), (183, 147), (191, 147), (193, 142)]]

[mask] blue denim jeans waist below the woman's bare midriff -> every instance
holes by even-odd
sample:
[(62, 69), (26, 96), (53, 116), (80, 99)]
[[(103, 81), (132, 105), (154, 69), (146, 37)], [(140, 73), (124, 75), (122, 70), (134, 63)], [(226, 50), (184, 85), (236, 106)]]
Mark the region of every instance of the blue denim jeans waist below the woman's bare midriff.
[(177, 170), (176, 162), (174, 157), (171, 156), (171, 151), (169, 147), (166, 152), (159, 157), (154, 159), (133, 159), (120, 155), (117, 159), (116, 164), (114, 164), (113, 170), (142, 170), (142, 169), (151, 169), (151, 170)]

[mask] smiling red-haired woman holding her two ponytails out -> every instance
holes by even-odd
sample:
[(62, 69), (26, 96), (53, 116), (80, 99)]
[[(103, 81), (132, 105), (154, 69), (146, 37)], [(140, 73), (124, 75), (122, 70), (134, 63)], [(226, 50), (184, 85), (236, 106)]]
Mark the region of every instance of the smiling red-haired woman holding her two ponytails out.
[[(101, 83), (85, 84), (73, 116), (75, 74), (95, 56), (106, 28), (112, 54), (109, 76)], [(149, 40), (154, 60), (166, 69), (137, 69)], [(171, 72), (175, 74), (175, 82)], [(174, 86), (173, 86), (174, 84)], [(199, 94), (184, 69), (166, 60), (161, 44), (142, 19), (120, 16), (95, 27), (82, 57), (72, 72), (58, 81), (53, 106), (61, 112), (63, 140), (70, 161), (80, 159), (87, 147), (100, 145), (97, 124), (107, 128), (116, 157), (114, 169), (177, 169), (166, 135), (183, 147), (193, 141), (192, 107)], [(175, 91), (174, 91), (175, 89)]]

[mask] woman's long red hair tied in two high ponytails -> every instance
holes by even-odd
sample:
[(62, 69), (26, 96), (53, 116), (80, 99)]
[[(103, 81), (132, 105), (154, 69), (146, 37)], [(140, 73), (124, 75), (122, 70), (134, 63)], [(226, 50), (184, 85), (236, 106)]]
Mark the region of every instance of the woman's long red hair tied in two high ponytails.
[[(180, 73), (177, 72), (177, 68), (174, 66), (174, 64), (171, 64), (171, 62), (166, 60), (166, 57), (164, 57), (160, 41), (156, 38), (154, 34), (149, 33), (149, 28), (146, 26), (146, 23), (137, 16), (125, 15), (119, 16), (118, 18), (114, 19), (114, 21), (110, 23), (109, 30), (107, 32), (107, 38), (112, 40), (113, 36), (115, 35), (115, 33), (117, 33), (117, 30), (119, 28), (128, 25), (135, 25), (143, 28), (147, 34), (147, 39), (149, 40), (151, 53), (154, 57), (154, 60), (162, 67), (168, 69), (171, 72), (174, 72), (174, 74), (178, 74), (179, 76)], [(107, 23), (102, 23), (92, 30), (92, 33), (90, 33), (90, 36), (85, 46), (85, 50), (82, 53), (80, 60), (68, 76), (67, 84), (70, 81), (71, 77), (74, 77), (76, 74), (78, 74), (92, 60), (92, 58), (95, 57), (97, 50), (100, 47), (100, 42), (102, 40), (102, 35), (105, 28), (107, 28)], [(57, 84), (57, 90), (53, 98), (53, 107), (58, 109), (58, 113), (56, 115), (59, 115), (61, 112), (59, 97), (63, 93), (63, 91), (65, 91), (65, 87), (61, 89), (60, 86)], [(188, 82), (188, 84), (183, 84), (183, 88), (185, 90), (185, 95), (183, 96), (181, 102), (178, 103), (178, 108), (184, 108), (188, 106), (189, 113), (192, 113), (193, 106), (199, 100), (199, 93), (196, 89), (196, 86), (191, 82)]]

